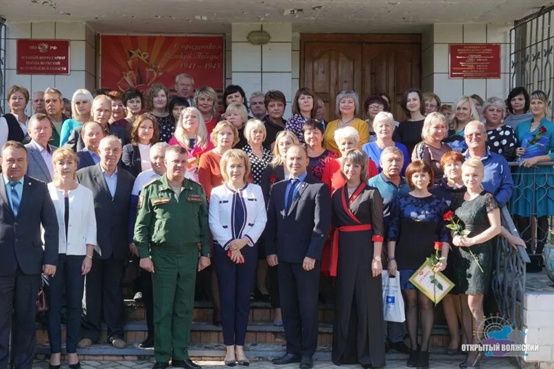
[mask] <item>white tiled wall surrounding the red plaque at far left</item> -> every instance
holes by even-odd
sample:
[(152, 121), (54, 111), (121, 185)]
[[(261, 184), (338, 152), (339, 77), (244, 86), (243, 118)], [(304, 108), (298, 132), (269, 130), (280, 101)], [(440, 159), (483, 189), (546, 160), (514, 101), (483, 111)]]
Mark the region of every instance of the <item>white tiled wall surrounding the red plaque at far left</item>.
[[(69, 75), (18, 75), (16, 73), (16, 40), (18, 38), (54, 38), (71, 40)], [(30, 93), (54, 86), (71, 99), (77, 88), (95, 88), (95, 34), (85, 23), (38, 22), (8, 23), (6, 32), (5, 86), (24, 86)], [(8, 109), (8, 105), (5, 105)], [(31, 113), (31, 104), (27, 107)]]

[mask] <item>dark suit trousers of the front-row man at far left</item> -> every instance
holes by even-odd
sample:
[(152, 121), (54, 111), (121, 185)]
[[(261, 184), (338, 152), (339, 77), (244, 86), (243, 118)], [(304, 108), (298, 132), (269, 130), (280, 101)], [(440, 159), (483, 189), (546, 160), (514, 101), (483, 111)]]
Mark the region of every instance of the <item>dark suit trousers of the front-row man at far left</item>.
[(8, 367), (12, 312), (13, 364), (16, 369), (31, 369), (36, 344), (34, 316), (36, 293), (41, 274), (23, 274), (19, 267), (15, 274), (0, 276), (0, 369)]

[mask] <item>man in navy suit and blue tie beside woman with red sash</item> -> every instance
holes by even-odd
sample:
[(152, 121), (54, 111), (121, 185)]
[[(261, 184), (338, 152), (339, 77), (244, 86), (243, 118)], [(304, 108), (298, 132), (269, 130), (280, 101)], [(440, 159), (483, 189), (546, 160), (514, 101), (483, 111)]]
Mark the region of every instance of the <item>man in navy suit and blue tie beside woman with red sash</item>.
[(270, 266), (278, 265), (279, 293), (286, 336), (286, 354), (274, 364), (313, 366), (317, 346), (319, 261), (331, 226), (327, 185), (310, 178), (308, 152), (292, 145), (286, 154), (288, 180), (271, 189), (265, 230)]

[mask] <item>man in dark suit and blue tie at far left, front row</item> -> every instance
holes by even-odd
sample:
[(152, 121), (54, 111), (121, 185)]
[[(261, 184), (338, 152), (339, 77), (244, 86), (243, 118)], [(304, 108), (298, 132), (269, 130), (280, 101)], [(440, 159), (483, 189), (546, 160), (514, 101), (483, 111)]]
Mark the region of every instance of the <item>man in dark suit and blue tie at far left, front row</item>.
[(25, 176), (27, 150), (23, 144), (5, 143), (0, 162), (0, 368), (8, 366), (13, 313), (13, 364), (30, 369), (36, 342), (35, 296), (41, 273), (56, 273), (58, 221), (46, 184)]

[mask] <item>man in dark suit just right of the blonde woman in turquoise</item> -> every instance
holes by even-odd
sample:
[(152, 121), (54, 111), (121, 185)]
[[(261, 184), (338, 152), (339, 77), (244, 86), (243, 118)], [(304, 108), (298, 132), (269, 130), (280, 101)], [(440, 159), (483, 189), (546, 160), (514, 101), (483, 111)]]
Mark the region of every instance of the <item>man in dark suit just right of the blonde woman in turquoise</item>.
[[(108, 123), (112, 115), (112, 101), (109, 96), (97, 95), (97, 97), (93, 100), (91, 114), (91, 120), (99, 123), (104, 132), (106, 132), (106, 135), (116, 136), (122, 141), (122, 145), (126, 145), (128, 143), (127, 131), (124, 130), (124, 128), (111, 126), (111, 124)], [(82, 140), (81, 131), (82, 127), (75, 128), (73, 132), (71, 132), (65, 147), (69, 147), (74, 152), (82, 150), (85, 146), (84, 141)]]

